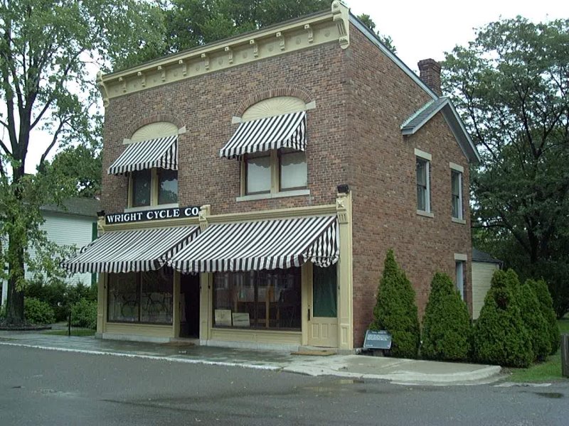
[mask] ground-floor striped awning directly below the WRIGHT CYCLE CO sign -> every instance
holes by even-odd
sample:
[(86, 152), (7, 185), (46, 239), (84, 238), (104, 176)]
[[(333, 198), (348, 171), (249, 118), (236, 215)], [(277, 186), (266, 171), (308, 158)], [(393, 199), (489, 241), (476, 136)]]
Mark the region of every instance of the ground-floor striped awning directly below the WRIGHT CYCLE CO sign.
[(155, 271), (187, 246), (198, 231), (198, 226), (179, 226), (105, 232), (64, 261), (63, 267), (73, 273)]

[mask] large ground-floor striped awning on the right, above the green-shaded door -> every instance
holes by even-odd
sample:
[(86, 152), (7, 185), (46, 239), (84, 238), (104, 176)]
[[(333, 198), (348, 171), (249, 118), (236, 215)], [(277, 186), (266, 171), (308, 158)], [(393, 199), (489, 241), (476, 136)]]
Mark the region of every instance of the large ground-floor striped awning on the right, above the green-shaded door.
[(330, 266), (339, 256), (336, 223), (326, 216), (211, 224), (169, 265), (184, 273)]

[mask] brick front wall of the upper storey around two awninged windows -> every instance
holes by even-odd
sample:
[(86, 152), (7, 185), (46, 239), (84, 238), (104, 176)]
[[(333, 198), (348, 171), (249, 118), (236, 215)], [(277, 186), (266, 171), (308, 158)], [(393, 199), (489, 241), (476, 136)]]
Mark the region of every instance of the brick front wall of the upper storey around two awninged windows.
[[(212, 214), (334, 204), (336, 185), (346, 180), (346, 65), (337, 43), (240, 65), (110, 100), (105, 114), (102, 205), (127, 206), (127, 178), (106, 174), (135, 126), (171, 118), (187, 132), (179, 136), (179, 204), (211, 204)], [(307, 111), (310, 196), (235, 202), (240, 195), (238, 160), (219, 158), (233, 135), (233, 116), (271, 94), (316, 101)], [(310, 99), (304, 99), (310, 98)], [(249, 105), (245, 105), (246, 103)]]

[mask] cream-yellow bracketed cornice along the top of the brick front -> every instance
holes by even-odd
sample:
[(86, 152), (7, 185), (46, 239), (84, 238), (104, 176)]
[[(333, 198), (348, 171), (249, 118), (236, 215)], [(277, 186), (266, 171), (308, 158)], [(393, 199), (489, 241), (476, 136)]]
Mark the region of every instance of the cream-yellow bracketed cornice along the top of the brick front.
[(334, 41), (343, 49), (350, 44), (349, 9), (339, 0), (332, 2), (331, 11), (185, 50), (127, 70), (106, 75), (99, 72), (97, 84), (106, 107), (109, 99), (124, 94)]

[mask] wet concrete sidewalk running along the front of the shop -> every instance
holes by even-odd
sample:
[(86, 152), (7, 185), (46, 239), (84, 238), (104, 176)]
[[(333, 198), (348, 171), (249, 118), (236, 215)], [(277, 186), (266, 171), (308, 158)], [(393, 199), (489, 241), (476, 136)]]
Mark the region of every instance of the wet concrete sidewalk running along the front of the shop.
[(220, 366), (241, 366), (309, 376), (380, 379), (418, 385), (474, 385), (501, 378), (499, 366), (459, 364), (364, 355), (308, 356), (280, 351), (253, 351), (189, 342), (154, 344), (118, 342), (94, 337), (65, 337), (29, 332), (1, 332), (0, 345), (27, 346), (85, 354), (131, 356), (161, 361)]

